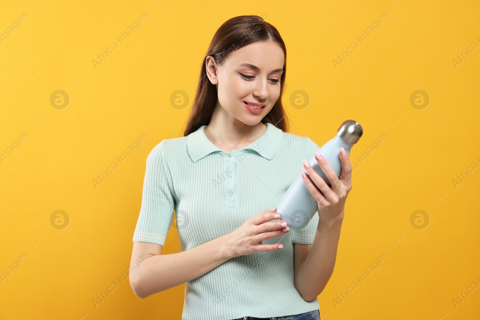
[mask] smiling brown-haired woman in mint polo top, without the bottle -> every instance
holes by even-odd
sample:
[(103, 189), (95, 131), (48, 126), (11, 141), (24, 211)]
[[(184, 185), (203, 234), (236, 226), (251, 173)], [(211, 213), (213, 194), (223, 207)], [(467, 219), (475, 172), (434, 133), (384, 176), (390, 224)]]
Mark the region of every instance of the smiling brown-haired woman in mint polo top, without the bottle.
[[(147, 157), (130, 283), (141, 298), (186, 283), (183, 320), (320, 319), (317, 296), (334, 269), (351, 165), (342, 148), (338, 179), (317, 154), (328, 187), (304, 161), (320, 147), (287, 132), (286, 56), (262, 18), (222, 24), (184, 136)], [(318, 214), (289, 230), (275, 207), (301, 169)], [(162, 255), (174, 210), (181, 252)]]

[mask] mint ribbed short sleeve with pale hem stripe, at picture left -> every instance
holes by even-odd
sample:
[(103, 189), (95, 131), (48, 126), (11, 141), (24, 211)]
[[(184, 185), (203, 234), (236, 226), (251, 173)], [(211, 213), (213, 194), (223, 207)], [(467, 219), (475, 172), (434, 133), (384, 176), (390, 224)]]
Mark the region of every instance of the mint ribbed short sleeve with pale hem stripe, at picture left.
[(133, 241), (161, 246), (165, 244), (172, 224), (175, 205), (170, 177), (165, 169), (165, 142), (158, 143), (147, 156), (142, 206), (133, 233)]

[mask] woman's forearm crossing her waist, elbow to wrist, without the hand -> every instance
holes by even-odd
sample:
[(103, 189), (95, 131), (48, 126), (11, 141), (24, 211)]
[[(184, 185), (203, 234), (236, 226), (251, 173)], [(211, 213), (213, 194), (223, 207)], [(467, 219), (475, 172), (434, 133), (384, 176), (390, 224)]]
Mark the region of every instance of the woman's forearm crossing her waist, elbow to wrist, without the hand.
[(225, 237), (179, 253), (152, 255), (130, 275), (135, 295), (145, 298), (195, 279), (228, 261), (230, 250)]

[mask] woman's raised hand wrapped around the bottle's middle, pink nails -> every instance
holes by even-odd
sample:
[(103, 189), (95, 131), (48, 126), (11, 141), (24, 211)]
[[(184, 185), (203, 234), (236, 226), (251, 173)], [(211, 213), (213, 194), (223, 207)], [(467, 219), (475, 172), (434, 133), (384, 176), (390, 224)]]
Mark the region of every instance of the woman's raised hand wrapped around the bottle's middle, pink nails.
[(320, 221), (326, 223), (343, 219), (345, 200), (347, 199), (348, 192), (352, 189), (352, 166), (344, 148), (340, 149), (339, 156), (342, 164), (340, 178), (337, 177), (336, 172), (325, 158), (318, 152), (315, 153), (315, 159), (330, 181), (331, 187), (313, 170), (312, 166), (310, 166), (306, 160), (303, 160), (303, 167), (307, 172), (307, 174), (305, 174), (305, 172), (302, 171), (303, 182), (318, 203), (318, 216)]

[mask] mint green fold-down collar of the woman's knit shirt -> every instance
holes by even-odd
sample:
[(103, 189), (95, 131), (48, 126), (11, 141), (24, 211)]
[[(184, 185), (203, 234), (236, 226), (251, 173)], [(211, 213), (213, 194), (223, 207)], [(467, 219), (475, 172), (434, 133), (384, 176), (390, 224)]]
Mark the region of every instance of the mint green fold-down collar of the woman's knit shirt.
[[(267, 129), (264, 134), (249, 146), (240, 149), (240, 151), (250, 149), (257, 152), (265, 159), (272, 159), (282, 142), (283, 131), (269, 122), (266, 123), (266, 126)], [(187, 136), (187, 150), (193, 162), (196, 162), (212, 152), (225, 152), (208, 140), (204, 132), (205, 127), (206, 125), (203, 125)]]

